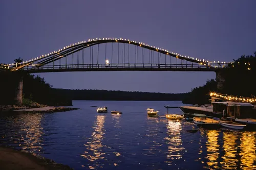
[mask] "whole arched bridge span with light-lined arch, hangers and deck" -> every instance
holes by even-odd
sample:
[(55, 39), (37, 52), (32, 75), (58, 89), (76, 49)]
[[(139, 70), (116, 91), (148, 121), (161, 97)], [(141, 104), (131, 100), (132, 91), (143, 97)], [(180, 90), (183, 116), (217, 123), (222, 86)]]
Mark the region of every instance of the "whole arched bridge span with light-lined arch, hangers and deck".
[[(99, 55), (99, 53), (102, 54)], [(226, 64), (228, 63), (183, 56), (129, 39), (96, 38), (64, 46), (58, 51), (26, 62), (2, 65), (1, 67), (28, 73), (122, 70), (216, 71), (224, 68)]]

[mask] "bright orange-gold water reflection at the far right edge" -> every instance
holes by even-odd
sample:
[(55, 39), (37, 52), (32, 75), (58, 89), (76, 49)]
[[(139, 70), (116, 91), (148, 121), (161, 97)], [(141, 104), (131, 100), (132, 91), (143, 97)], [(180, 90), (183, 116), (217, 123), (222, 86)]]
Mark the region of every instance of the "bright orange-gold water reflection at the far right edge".
[[(243, 132), (240, 137), (241, 169), (256, 169), (256, 132)], [(254, 165), (253, 165), (254, 163)]]

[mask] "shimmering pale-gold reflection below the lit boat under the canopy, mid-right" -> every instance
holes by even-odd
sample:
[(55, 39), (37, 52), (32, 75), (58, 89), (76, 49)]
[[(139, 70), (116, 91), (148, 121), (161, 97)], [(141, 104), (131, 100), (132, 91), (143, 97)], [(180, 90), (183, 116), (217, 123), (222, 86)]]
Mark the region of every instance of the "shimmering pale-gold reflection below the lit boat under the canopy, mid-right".
[(166, 163), (172, 165), (173, 160), (182, 158), (181, 152), (185, 149), (182, 147), (181, 139), (181, 123), (177, 121), (169, 120), (167, 122), (167, 137), (164, 139), (167, 140), (168, 144), (168, 154)]

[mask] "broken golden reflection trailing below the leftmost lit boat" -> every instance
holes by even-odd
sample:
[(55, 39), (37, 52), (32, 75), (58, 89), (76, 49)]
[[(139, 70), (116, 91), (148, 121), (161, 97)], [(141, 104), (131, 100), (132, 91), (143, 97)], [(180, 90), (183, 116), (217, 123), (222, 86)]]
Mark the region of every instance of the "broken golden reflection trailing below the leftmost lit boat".
[[(104, 159), (105, 153), (102, 152), (102, 139), (104, 138), (103, 135), (105, 134), (104, 122), (105, 116), (97, 115), (96, 122), (94, 122), (94, 125), (92, 127), (94, 129), (92, 137), (89, 138), (87, 144), (84, 144), (87, 147), (88, 152), (84, 151), (84, 154), (82, 154), (81, 156), (88, 159), (89, 161), (93, 162), (99, 159)], [(97, 166), (99, 166), (99, 164), (96, 163), (95, 167)]]

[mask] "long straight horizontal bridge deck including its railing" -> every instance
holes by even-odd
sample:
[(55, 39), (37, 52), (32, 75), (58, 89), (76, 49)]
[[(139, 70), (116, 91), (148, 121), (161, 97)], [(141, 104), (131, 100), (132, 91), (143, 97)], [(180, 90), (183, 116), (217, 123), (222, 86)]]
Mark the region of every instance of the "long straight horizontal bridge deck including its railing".
[(68, 72), (68, 71), (216, 71), (218, 68), (198, 64), (73, 64), (25, 66), (23, 71)]

